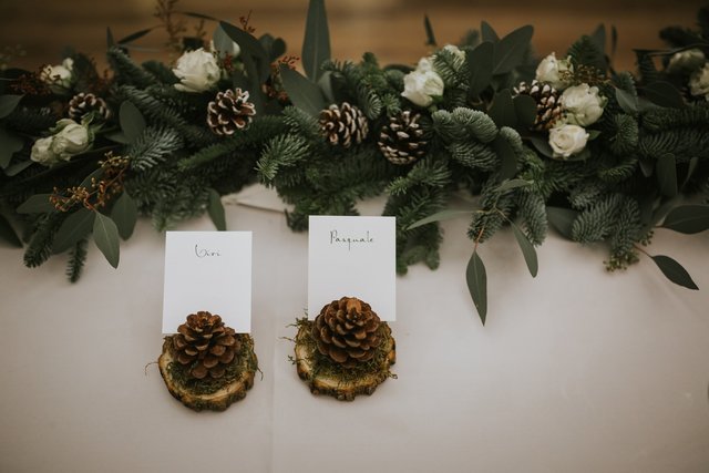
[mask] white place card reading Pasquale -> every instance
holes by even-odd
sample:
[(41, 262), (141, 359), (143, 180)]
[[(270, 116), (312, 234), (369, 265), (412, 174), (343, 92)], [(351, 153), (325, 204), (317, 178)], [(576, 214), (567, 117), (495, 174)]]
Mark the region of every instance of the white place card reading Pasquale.
[(308, 317), (326, 304), (357, 297), (381, 320), (397, 317), (394, 217), (310, 216)]

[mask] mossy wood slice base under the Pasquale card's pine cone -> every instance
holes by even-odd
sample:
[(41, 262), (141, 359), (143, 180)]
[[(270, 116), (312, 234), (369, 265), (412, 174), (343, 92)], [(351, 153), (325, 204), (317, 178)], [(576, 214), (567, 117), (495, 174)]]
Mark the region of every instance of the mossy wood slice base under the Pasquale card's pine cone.
[(301, 380), (308, 383), (314, 394), (327, 394), (340, 401), (353, 401), (358, 394), (372, 394), (387, 378), (394, 378), (389, 368), (397, 361), (397, 343), (386, 322), (379, 327), (382, 345), (371, 362), (354, 369), (321, 354), (310, 337), (309, 320), (298, 321), (296, 335), (296, 369)]

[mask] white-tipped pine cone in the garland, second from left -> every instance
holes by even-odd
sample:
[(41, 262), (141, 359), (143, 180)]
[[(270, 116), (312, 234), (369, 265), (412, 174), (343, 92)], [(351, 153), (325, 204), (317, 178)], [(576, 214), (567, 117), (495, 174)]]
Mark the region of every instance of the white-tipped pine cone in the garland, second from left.
[(207, 124), (219, 136), (230, 136), (244, 130), (256, 114), (256, 106), (248, 101), (248, 91), (242, 89), (217, 92), (207, 105)]

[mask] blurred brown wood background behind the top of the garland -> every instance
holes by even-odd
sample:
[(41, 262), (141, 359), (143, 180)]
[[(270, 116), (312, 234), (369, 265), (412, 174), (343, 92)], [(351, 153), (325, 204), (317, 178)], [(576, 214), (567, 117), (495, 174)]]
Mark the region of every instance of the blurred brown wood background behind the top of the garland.
[[(256, 33), (270, 32), (282, 37), (288, 53), (300, 55), (307, 0), (182, 0), (179, 9), (238, 22), (239, 16), (251, 11)], [(571, 7), (573, 4), (573, 8)], [(477, 0), (476, 2), (436, 0), (338, 0), (327, 3), (332, 54), (338, 59), (357, 60), (372, 51), (382, 63), (413, 64), (429, 52), (423, 44), (423, 16), (429, 14), (439, 43), (456, 42), (466, 30), (477, 28), (481, 20), (504, 34), (523, 24), (533, 24), (533, 44), (540, 55), (552, 51), (564, 53), (580, 34), (598, 24), (615, 25), (619, 33), (618, 53), (614, 65), (633, 70), (631, 48), (657, 48), (660, 28), (669, 24), (692, 27), (702, 1), (658, 0), (521, 2), (515, 0)], [(116, 38), (157, 24), (152, 17), (152, 0), (96, 2), (73, 0), (2, 0), (0, 1), (0, 48), (20, 44), (27, 52), (13, 65), (37, 69), (43, 63), (58, 63), (63, 47), (74, 47), (105, 65), (106, 27)], [(209, 25), (207, 29), (210, 30)], [(161, 47), (164, 35), (151, 33), (142, 45), (155, 52), (135, 53), (136, 59), (164, 59)]]

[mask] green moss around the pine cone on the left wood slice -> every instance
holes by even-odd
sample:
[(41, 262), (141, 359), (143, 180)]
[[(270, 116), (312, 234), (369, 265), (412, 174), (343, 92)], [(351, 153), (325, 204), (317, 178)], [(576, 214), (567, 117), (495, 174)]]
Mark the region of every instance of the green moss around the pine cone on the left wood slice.
[(246, 333), (238, 333), (237, 338), (242, 342), (242, 349), (236, 353), (232, 363), (226, 367), (226, 373), (222, 378), (205, 378), (199, 380), (189, 374), (189, 370), (192, 369), (191, 364), (183, 366), (176, 361), (172, 361), (167, 366), (167, 371), (175, 384), (194, 394), (213, 394), (240, 378), (245, 371), (255, 372), (258, 370), (258, 362), (253, 354), (254, 339)]

